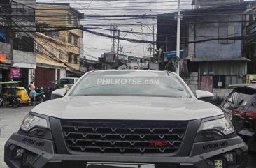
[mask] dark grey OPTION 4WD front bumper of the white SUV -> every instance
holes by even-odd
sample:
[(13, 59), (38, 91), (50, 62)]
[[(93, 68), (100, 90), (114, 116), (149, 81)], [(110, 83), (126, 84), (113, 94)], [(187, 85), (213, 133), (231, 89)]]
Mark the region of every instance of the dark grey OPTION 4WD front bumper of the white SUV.
[(247, 146), (241, 137), (222, 139), (214, 142), (198, 142), (192, 145), (189, 156), (122, 155), (122, 154), (58, 154), (54, 142), (45, 139), (13, 134), (5, 144), (4, 161), (10, 168), (22, 167), (22, 158), (13, 158), (15, 148), (22, 148), (35, 159), (35, 168), (86, 168), (87, 162), (121, 162), (155, 164), (156, 168), (210, 168), (213, 160), (220, 160), (225, 153), (235, 153), (235, 162), (225, 162), (223, 168), (246, 168)]

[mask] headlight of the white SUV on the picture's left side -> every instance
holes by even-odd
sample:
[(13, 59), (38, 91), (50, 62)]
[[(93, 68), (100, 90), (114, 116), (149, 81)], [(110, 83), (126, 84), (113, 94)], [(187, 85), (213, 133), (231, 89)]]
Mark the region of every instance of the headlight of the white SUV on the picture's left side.
[(28, 132), (29, 130), (31, 130), (31, 128), (35, 128), (35, 127), (48, 128), (47, 120), (38, 116), (33, 116), (31, 114), (28, 114), (24, 118), (20, 128)]

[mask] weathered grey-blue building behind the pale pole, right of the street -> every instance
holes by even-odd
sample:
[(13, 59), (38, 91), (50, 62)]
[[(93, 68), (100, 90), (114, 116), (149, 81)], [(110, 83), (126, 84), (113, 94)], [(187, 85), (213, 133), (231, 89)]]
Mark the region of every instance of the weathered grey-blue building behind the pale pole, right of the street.
[[(229, 84), (246, 82), (247, 63), (243, 57), (243, 22), (250, 4), (232, 3), (182, 12), (180, 75), (192, 91), (202, 89), (227, 96)], [(175, 13), (157, 16), (157, 49), (176, 50)], [(168, 23), (168, 24), (166, 24)]]

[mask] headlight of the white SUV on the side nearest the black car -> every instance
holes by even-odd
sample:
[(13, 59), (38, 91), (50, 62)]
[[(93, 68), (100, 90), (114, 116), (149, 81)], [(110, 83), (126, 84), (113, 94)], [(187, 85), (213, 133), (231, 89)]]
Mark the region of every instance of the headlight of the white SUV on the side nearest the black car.
[(223, 135), (230, 135), (234, 132), (234, 127), (231, 121), (221, 118), (204, 122), (201, 131), (204, 130), (218, 130), (218, 132), (221, 132)]

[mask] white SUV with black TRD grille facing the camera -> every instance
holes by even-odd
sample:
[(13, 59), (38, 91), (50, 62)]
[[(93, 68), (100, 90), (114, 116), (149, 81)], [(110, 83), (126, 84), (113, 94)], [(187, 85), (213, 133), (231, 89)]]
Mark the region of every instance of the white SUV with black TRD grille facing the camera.
[(173, 72), (87, 72), (25, 116), (5, 144), (9, 167), (247, 167), (221, 109)]

